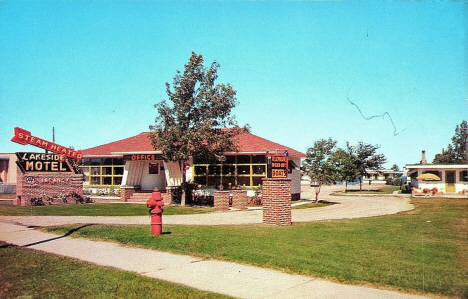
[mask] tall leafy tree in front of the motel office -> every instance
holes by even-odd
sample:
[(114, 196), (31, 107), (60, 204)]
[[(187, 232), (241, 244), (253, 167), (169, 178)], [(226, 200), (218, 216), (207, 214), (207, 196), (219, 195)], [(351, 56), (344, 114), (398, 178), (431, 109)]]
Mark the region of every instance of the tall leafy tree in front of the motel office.
[[(192, 52), (183, 73), (177, 71), (172, 88), (166, 83), (170, 103), (154, 105), (158, 110), (150, 126), (153, 147), (162, 152), (165, 162), (179, 162), (182, 191), (186, 185), (185, 165), (190, 157), (219, 158), (226, 151), (238, 151), (239, 127), (231, 110), (237, 105), (236, 91), (228, 83), (215, 84), (219, 64), (203, 66), (203, 56)], [(182, 197), (184, 200), (184, 197)]]

